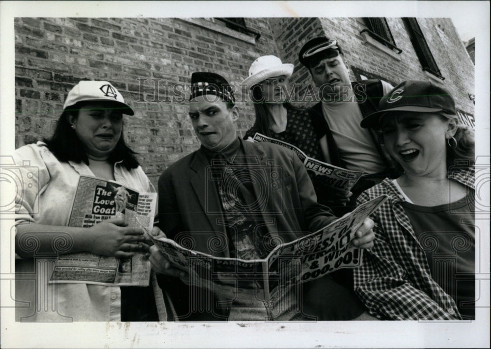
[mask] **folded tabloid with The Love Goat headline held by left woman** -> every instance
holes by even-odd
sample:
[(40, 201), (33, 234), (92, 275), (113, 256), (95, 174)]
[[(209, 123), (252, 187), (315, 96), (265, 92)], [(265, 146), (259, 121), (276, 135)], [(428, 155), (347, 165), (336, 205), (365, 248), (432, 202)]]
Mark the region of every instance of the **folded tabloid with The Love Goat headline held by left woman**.
[[(157, 193), (137, 192), (115, 182), (80, 176), (68, 226), (88, 228), (103, 220), (122, 217), (128, 227), (152, 230)], [(148, 286), (150, 262), (143, 253), (119, 259), (89, 252), (58, 257), (50, 283), (107, 286)]]

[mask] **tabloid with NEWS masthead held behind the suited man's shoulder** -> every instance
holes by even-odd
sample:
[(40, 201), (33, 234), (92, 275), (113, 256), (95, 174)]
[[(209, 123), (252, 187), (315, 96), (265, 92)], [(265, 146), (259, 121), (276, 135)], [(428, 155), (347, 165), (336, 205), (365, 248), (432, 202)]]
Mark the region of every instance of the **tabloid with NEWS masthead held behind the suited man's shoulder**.
[(296, 146), (265, 136), (264, 134), (256, 133), (252, 139), (256, 142), (278, 144), (293, 150), (305, 165), (312, 182), (316, 183), (317, 181), (321, 181), (327, 188), (334, 188), (343, 192), (344, 194), (348, 194), (351, 188), (353, 188), (355, 185), (356, 181), (358, 181), (358, 179), (363, 175), (363, 172), (361, 171), (347, 170), (346, 168), (337, 167), (326, 162), (309, 158)]

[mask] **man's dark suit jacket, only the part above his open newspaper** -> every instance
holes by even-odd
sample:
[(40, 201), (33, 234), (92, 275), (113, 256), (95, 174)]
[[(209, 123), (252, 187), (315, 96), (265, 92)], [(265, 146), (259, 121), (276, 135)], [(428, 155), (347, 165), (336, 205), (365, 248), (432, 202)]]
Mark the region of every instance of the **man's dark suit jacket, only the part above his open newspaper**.
[[(290, 242), (335, 218), (317, 203), (312, 182), (294, 152), (269, 143), (241, 142), (254, 180), (255, 197), (246, 197), (246, 201), (272, 236)], [(226, 240), (223, 219), (213, 168), (202, 149), (162, 174), (159, 222), (168, 238), (192, 243), (200, 252), (228, 257), (228, 249), (212, 247), (212, 242)]]

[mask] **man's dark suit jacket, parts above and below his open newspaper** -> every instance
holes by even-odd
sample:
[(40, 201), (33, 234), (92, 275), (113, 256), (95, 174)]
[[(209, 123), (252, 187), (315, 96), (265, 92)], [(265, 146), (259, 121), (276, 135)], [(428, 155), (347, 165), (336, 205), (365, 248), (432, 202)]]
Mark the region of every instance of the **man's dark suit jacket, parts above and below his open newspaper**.
[[(317, 203), (312, 182), (293, 151), (270, 143), (241, 142), (254, 180), (254, 197), (246, 197), (246, 201), (272, 237), (291, 242), (335, 219), (327, 207)], [(202, 149), (169, 166), (159, 178), (159, 225), (168, 238), (181, 245), (229, 257), (214, 178), (214, 169)], [(159, 284), (170, 293), (180, 320), (227, 319), (228, 310), (216, 307), (211, 292), (163, 275)], [(319, 320), (349, 320), (362, 312), (353, 290), (337, 284), (330, 276), (305, 286), (304, 310), (319, 316)], [(198, 298), (205, 304), (196, 304)], [(325, 314), (319, 313), (319, 308)]]

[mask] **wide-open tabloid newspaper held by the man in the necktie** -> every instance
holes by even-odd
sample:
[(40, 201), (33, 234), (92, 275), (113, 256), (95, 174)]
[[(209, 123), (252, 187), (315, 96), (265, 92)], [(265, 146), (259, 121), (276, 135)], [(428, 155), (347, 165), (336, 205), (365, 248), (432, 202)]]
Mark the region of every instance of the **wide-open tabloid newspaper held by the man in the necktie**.
[(256, 297), (269, 301), (278, 296), (280, 288), (293, 287), (341, 268), (361, 265), (363, 250), (350, 242), (365, 218), (386, 199), (386, 195), (381, 195), (315, 233), (278, 244), (265, 259), (260, 260), (214, 257), (164, 237), (152, 239), (173, 266), (189, 273), (186, 282), (233, 299), (240, 280), (241, 288), (250, 287)]

